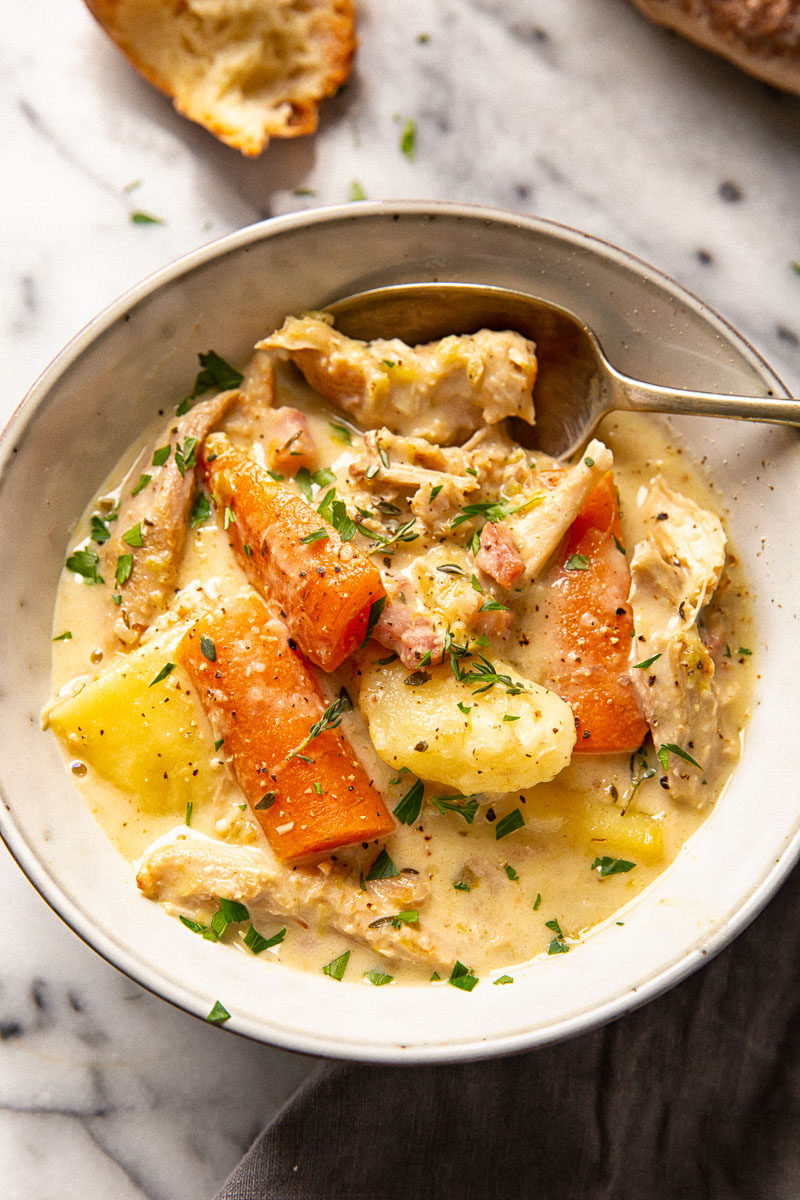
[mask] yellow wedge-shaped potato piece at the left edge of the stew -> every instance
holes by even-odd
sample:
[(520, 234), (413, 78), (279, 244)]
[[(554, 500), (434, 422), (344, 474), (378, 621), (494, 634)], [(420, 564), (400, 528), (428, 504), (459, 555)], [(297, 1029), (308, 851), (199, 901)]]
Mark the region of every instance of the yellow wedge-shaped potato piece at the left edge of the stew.
[(221, 773), (211, 766), (210, 727), (182, 668), (154, 683), (174, 660), (173, 643), (148, 643), (119, 659), (56, 704), (49, 726), (68, 754), (136, 796), (139, 808), (182, 818), (190, 799), (213, 796)]

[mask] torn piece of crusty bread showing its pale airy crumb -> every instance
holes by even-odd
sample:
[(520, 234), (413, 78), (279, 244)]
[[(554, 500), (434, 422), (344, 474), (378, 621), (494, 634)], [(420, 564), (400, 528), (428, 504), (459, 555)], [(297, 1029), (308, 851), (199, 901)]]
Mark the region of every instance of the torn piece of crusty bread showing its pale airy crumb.
[(85, 0), (145, 79), (245, 155), (317, 128), (348, 77), (353, 0)]

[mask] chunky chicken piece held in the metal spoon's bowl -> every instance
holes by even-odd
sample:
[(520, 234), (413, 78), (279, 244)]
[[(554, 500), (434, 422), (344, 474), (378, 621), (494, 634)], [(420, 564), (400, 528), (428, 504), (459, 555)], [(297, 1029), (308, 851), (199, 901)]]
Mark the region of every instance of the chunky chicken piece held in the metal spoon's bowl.
[(315, 313), (288, 317), (257, 349), (290, 359), (362, 428), (389, 425), (453, 444), (506, 416), (534, 422), (536, 354), (521, 334), (482, 329), (416, 347), (398, 338), (360, 342)]

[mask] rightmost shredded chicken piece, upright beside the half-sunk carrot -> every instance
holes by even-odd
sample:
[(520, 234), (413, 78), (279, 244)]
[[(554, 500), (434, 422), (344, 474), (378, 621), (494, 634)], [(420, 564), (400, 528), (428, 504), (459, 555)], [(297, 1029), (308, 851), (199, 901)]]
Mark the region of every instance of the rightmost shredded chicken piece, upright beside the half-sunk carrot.
[(710, 799), (706, 776), (734, 752), (721, 725), (714, 660), (697, 630), (724, 568), (726, 536), (717, 516), (660, 480), (642, 506), (648, 535), (631, 559), (632, 662), (652, 662), (633, 665), (631, 679), (656, 748), (679, 746), (699, 763), (666, 751), (670, 794), (702, 808)]

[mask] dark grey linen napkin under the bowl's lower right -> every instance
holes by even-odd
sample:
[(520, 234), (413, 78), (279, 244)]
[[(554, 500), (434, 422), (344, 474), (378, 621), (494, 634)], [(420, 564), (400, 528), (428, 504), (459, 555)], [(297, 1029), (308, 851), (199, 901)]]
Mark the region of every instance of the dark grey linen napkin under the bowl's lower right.
[(712, 962), (593, 1033), (323, 1066), (217, 1200), (799, 1200), (799, 1009), (800, 869)]

